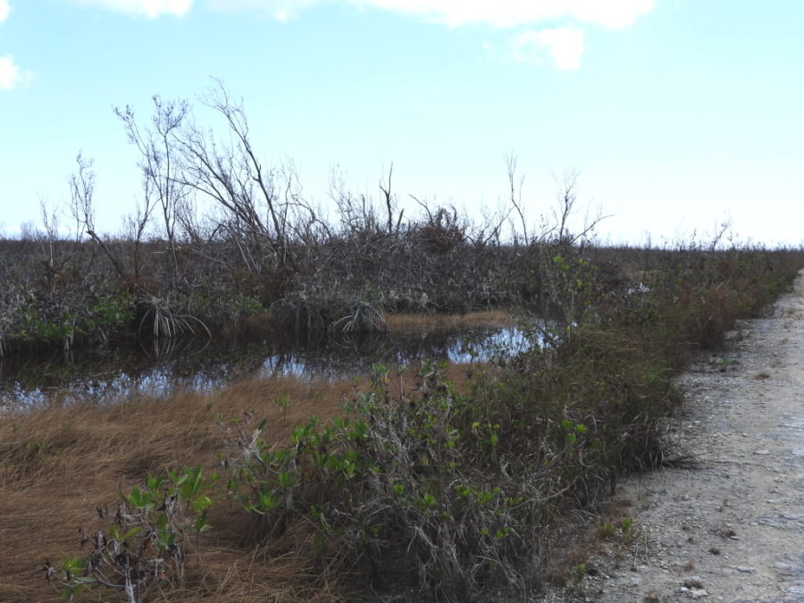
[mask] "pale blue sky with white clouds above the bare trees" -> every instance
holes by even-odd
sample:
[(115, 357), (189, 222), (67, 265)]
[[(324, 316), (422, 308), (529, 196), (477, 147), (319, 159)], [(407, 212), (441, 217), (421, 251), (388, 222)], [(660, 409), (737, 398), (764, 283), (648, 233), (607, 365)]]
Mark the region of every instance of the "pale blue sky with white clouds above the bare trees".
[(393, 162), (410, 211), (494, 210), (513, 154), (533, 223), (576, 169), (602, 239), (799, 245), (802, 27), (799, 0), (0, 0), (0, 232), (65, 213), (79, 150), (116, 232), (141, 187), (113, 106), (212, 76), (320, 205), (333, 167), (376, 195)]

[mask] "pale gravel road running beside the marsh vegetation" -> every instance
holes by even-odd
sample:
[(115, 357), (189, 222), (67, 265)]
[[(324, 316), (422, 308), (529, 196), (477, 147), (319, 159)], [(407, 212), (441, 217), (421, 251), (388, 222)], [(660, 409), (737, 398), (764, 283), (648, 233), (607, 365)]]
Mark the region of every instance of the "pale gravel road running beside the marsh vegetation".
[(804, 602), (804, 271), (726, 349), (683, 375), (668, 426), (699, 465), (620, 484), (632, 530), (540, 600)]

